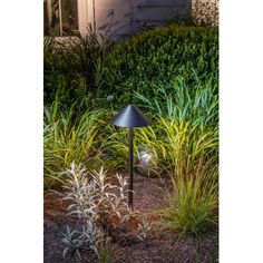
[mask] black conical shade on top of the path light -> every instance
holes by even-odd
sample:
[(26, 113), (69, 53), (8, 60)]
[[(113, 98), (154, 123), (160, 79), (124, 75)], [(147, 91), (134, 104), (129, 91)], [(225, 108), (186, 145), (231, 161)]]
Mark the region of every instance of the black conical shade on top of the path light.
[(134, 105), (128, 105), (113, 118), (113, 124), (120, 127), (144, 127), (150, 121)]

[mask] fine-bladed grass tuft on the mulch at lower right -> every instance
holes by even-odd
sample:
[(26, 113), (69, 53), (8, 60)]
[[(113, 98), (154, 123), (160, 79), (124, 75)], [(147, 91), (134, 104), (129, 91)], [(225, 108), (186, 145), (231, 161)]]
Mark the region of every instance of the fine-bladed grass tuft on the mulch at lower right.
[(218, 168), (202, 159), (196, 165), (186, 162), (176, 175), (171, 176), (173, 192), (167, 193), (167, 207), (158, 211), (160, 230), (199, 236), (217, 230), (218, 225)]

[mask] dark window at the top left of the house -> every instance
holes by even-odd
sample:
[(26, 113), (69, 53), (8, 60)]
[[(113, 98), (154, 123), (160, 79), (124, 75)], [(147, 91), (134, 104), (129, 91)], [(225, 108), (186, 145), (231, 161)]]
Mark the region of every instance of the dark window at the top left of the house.
[(45, 35), (68, 36), (78, 30), (77, 0), (43, 0)]

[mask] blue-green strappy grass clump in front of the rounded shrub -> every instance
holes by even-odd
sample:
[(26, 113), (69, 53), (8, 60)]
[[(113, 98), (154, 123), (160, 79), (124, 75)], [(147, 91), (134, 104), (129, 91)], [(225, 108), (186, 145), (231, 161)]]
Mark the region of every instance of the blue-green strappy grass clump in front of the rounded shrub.
[(175, 121), (191, 121), (202, 127), (217, 126), (218, 92), (212, 81), (202, 84), (193, 69), (195, 84), (187, 86), (183, 77), (171, 81), (167, 87), (158, 87), (158, 97), (152, 98), (135, 92), (138, 105), (145, 110), (168, 117)]

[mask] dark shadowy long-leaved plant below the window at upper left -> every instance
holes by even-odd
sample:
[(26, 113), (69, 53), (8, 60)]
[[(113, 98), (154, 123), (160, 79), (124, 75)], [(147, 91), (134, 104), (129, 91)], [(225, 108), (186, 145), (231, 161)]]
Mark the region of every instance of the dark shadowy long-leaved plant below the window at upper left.
[(67, 107), (95, 96), (101, 87), (101, 61), (111, 41), (89, 27), (86, 36), (46, 37), (43, 42), (43, 99), (51, 104), (58, 96)]

